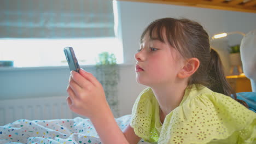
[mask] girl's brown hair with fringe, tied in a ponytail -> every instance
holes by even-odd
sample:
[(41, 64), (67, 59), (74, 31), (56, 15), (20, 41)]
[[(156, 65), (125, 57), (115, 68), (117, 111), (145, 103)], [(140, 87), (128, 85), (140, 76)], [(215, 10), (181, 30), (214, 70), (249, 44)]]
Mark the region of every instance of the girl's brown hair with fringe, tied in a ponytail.
[(229, 96), (234, 94), (235, 100), (247, 106), (244, 101), (236, 98), (234, 90), (226, 81), (219, 55), (215, 50), (210, 49), (209, 36), (198, 22), (188, 19), (158, 19), (144, 29), (141, 41), (147, 32), (150, 39), (156, 35), (162, 42), (165, 42), (164, 35), (166, 35), (167, 43), (177, 49), (184, 58), (199, 59), (200, 66), (190, 77), (188, 85), (201, 84), (214, 92)]

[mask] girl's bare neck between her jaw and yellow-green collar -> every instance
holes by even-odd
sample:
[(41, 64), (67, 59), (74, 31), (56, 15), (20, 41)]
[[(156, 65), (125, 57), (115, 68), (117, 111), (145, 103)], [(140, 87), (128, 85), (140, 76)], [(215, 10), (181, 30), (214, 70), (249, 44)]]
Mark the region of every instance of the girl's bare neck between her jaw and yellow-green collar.
[(187, 83), (179, 83), (179, 85), (165, 85), (161, 87), (152, 87), (152, 91), (155, 94), (160, 106), (160, 119), (164, 121), (166, 115), (179, 106), (181, 103)]

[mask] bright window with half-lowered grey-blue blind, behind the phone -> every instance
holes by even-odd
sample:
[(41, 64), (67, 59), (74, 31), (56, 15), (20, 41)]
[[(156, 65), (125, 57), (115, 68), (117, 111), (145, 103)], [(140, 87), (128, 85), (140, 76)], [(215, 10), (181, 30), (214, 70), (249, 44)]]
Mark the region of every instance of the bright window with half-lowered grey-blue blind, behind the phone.
[(63, 48), (71, 46), (80, 65), (96, 64), (101, 52), (123, 63), (123, 46), (114, 34), (115, 1), (11, 0), (0, 5), (0, 61), (14, 61), (14, 67), (67, 65)]

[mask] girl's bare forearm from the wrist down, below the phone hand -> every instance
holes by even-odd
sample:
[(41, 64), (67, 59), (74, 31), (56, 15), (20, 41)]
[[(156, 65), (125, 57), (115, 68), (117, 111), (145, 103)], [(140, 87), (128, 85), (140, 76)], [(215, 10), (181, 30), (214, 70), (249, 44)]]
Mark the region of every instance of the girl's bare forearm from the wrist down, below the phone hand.
[(111, 112), (109, 106), (108, 109), (104, 109), (103, 115), (91, 118), (92, 124), (100, 136), (102, 143), (127, 143), (123, 132), (118, 127), (117, 122), (114, 119), (113, 113)]

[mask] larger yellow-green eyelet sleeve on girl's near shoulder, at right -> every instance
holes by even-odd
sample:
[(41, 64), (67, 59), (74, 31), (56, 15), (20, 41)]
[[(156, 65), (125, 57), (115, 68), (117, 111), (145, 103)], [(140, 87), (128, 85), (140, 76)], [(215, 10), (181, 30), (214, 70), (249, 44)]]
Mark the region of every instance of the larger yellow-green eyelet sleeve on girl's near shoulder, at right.
[(253, 111), (208, 89), (166, 116), (158, 143), (256, 143), (255, 125)]

